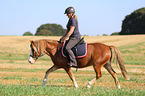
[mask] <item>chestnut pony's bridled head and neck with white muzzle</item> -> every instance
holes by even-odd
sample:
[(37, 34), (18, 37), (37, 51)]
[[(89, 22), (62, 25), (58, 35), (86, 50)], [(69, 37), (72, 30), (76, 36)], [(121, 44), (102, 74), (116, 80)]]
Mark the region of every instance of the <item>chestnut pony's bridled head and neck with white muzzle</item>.
[(50, 40), (30, 40), (30, 48), (31, 53), (29, 63), (33, 64), (39, 57), (45, 54), (50, 55), (52, 51), (54, 51), (54, 49), (57, 48), (57, 45), (54, 43), (54, 41)]

